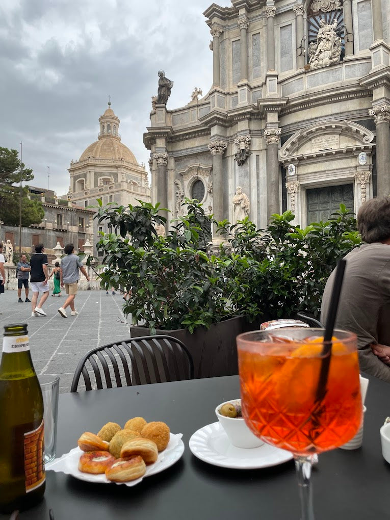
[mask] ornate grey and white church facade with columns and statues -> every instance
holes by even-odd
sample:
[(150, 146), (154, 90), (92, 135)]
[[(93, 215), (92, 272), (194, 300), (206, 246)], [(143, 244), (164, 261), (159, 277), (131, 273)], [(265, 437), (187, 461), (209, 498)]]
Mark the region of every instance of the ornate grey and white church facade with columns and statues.
[(264, 228), (273, 213), (305, 226), (390, 194), (390, 0), (231, 4), (204, 12), (209, 92), (177, 109), (154, 99), (153, 202), (179, 216), (197, 198), (233, 223), (245, 194)]

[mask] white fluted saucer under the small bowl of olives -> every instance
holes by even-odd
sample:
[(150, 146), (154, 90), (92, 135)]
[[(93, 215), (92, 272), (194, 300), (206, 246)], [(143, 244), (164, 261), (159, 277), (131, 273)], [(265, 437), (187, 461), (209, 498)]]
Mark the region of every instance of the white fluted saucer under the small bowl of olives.
[(256, 470), (282, 464), (293, 458), (289, 451), (263, 444), (258, 448), (236, 448), (230, 444), (219, 422), (207, 424), (190, 438), (194, 456), (209, 464), (236, 470)]

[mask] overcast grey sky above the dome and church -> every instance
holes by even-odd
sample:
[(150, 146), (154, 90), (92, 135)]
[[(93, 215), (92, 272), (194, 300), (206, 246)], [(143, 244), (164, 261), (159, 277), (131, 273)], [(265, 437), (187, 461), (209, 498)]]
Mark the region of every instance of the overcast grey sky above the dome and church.
[[(32, 184), (64, 194), (70, 161), (97, 139), (108, 95), (122, 142), (139, 163), (159, 69), (167, 108), (212, 84), (211, 0), (1, 0), (0, 146), (20, 150)], [(231, 5), (229, 0), (216, 2)], [(48, 179), (47, 166), (50, 167)], [(148, 165), (147, 165), (148, 170)]]

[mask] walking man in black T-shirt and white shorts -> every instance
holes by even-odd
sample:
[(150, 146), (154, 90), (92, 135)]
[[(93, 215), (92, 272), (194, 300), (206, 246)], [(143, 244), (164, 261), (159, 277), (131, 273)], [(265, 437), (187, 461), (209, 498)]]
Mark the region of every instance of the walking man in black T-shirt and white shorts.
[[(47, 272), (47, 256), (44, 254), (44, 245), (35, 246), (36, 253), (30, 257), (30, 282), (33, 291), (31, 298), (32, 313), (31, 317), (46, 316), (42, 305), (46, 302), (49, 295), (48, 272)], [(39, 293), (43, 293), (39, 303), (37, 303)]]

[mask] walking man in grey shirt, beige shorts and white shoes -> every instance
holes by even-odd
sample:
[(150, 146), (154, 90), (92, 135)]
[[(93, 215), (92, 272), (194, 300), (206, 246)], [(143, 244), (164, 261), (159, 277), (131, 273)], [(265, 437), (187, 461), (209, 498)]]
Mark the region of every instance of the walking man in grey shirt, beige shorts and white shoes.
[(71, 315), (76, 316), (77, 311), (74, 308), (74, 298), (77, 294), (77, 289), (79, 286), (79, 278), (80, 271), (83, 273), (87, 281), (89, 282), (89, 277), (87, 275), (87, 271), (84, 269), (83, 264), (81, 263), (80, 258), (74, 254), (74, 245), (67, 244), (64, 247), (64, 253), (67, 255), (61, 260), (61, 268), (60, 268), (60, 283), (61, 287), (64, 287), (68, 297), (63, 304), (62, 307), (58, 309), (59, 314), (62, 318), (67, 318), (66, 308), (69, 306), (71, 309)]

